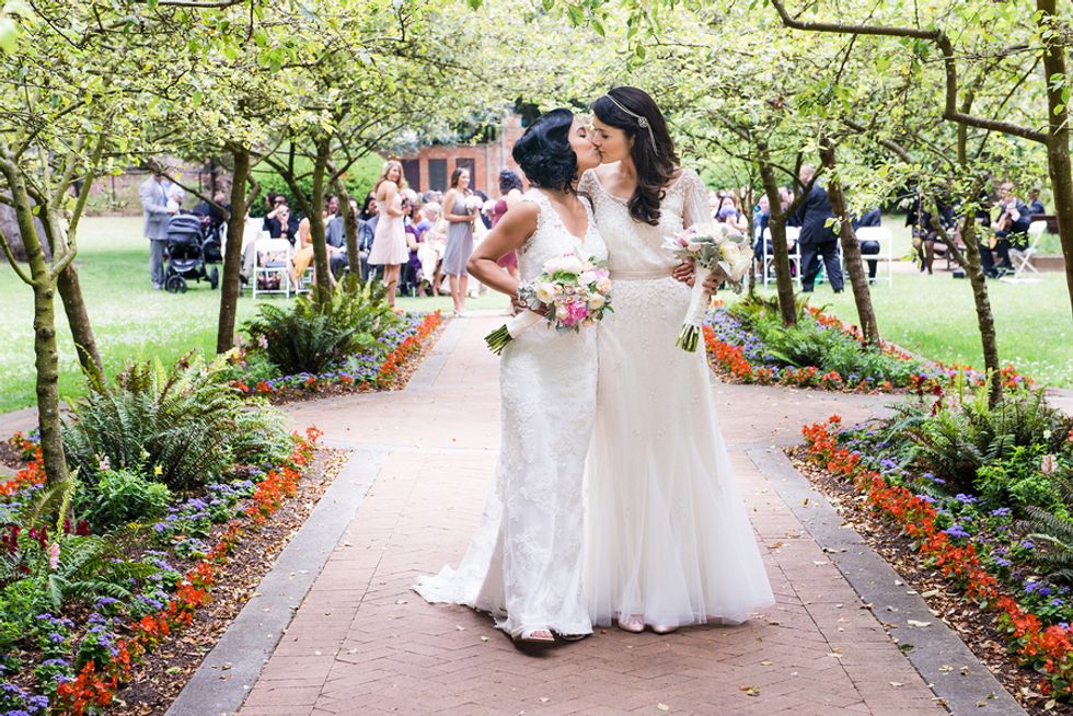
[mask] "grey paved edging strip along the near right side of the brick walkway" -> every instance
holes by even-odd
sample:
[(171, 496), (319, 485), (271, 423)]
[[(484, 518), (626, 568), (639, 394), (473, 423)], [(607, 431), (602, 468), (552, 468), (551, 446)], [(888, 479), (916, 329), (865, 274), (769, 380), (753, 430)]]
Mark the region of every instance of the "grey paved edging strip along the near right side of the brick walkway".
[[(912, 590), (908, 584), (895, 588), (896, 580), (904, 580), (856, 530), (842, 527), (842, 517), (798, 472), (782, 449), (752, 448), (747, 453), (854, 591), (864, 602), (873, 604), (872, 612), (880, 623), (889, 623), (895, 615), (900, 620), (931, 623), (926, 628), (913, 628), (907, 623), (887, 632), (901, 643), (913, 645), (914, 648), (904, 654), (905, 658), (951, 713), (1024, 716), (1026, 712), (1020, 704), (961, 637), (932, 614), (923, 597), (907, 593)], [(886, 617), (888, 613), (891, 617)], [(955, 670), (941, 671), (939, 667), (946, 665), (954, 666)], [(960, 673), (962, 666), (969, 667), (968, 674)], [(988, 698), (989, 693), (994, 693), (995, 697)], [(984, 705), (979, 706), (980, 702)]]

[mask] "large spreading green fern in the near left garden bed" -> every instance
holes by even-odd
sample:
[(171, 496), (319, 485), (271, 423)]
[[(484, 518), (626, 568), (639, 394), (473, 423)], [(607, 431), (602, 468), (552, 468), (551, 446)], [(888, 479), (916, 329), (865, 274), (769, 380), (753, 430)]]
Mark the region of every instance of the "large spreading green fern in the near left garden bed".
[(254, 461), (257, 444), (284, 430), (267, 407), (249, 407), (218, 367), (181, 359), (136, 363), (73, 405), (64, 426), (68, 460), (91, 486), (107, 457), (115, 470), (138, 471), (173, 490), (217, 482), (234, 460), (233, 446)]

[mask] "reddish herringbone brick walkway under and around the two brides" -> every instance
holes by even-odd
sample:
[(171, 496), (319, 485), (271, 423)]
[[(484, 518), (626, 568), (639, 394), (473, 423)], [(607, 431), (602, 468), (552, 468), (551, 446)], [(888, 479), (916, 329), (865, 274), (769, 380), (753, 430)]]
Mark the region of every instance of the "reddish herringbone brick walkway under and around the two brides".
[(291, 408), (385, 459), (241, 714), (946, 713), (747, 452), (833, 412), (863, 419), (882, 399), (715, 386), (777, 596), (746, 625), (612, 628), (530, 655), (487, 616), (409, 591), (458, 562), (491, 483), (497, 359), (481, 337), (497, 321), (469, 320), (428, 388)]

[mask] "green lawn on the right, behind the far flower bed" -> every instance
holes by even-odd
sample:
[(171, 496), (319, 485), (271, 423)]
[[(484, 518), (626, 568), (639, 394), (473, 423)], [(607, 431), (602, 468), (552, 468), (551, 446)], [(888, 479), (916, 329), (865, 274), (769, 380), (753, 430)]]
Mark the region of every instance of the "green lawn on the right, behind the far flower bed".
[[(943, 265), (941, 263), (941, 265)], [(880, 266), (880, 275), (884, 268)], [(999, 333), (999, 356), (1041, 383), (1073, 388), (1073, 321), (1062, 274), (1042, 274), (1039, 282), (989, 281)], [(972, 292), (965, 279), (946, 272), (934, 276), (895, 274), (893, 287), (872, 289), (879, 333), (905, 348), (943, 362), (983, 366)], [(829, 305), (845, 321), (857, 323), (849, 288), (835, 296), (817, 286), (812, 305)]]

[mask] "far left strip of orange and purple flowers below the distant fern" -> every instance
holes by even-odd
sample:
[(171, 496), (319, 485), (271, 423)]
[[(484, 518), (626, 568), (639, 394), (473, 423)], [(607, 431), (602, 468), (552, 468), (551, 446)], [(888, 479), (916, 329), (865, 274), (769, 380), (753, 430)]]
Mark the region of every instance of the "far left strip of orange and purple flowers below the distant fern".
[[(295, 400), (333, 391), (392, 390), (399, 384), (401, 368), (428, 344), (442, 322), (439, 311), (425, 315), (406, 315), (400, 327), (385, 332), (383, 339), (372, 351), (348, 359), (346, 370), (259, 380), (236, 379), (230, 384), (245, 395), (264, 396), (272, 401)], [(239, 350), (234, 354), (233, 361), (241, 368), (245, 358), (245, 353)]]

